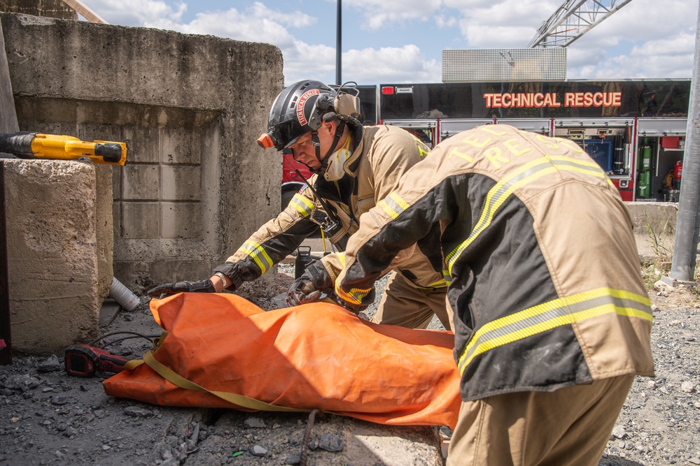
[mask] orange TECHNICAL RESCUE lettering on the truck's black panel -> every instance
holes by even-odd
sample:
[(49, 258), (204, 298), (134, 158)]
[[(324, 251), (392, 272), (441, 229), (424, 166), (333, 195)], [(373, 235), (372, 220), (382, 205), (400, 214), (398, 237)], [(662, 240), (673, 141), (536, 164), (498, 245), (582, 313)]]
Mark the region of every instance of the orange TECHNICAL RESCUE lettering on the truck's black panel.
[(565, 92), (560, 98), (556, 92), (529, 92), (512, 94), (484, 94), (486, 108), (542, 108), (552, 107), (619, 107), (622, 92)]

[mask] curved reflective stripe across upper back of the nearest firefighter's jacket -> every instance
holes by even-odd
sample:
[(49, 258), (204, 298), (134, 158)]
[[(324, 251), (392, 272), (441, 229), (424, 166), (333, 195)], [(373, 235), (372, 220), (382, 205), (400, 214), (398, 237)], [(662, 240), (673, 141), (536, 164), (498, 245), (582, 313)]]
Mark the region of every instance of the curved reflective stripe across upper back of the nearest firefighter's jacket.
[(491, 224), (498, 208), (505, 203), (507, 198), (509, 198), (515, 190), (549, 173), (567, 170), (599, 177), (610, 183), (605, 172), (593, 161), (573, 159), (572, 157), (566, 156), (545, 155), (544, 158), (535, 159), (524, 164), (519, 170), (504, 177), (503, 180), (500, 180), (495, 186), (489, 189), (489, 193), (486, 194), (486, 201), (484, 202), (484, 210), (482, 210), (482, 214), (476, 226), (469, 233), (466, 240), (461, 242), (460, 245), (445, 256), (445, 261), (447, 261), (447, 274), (451, 275), (452, 266), (457, 259), (459, 259), (462, 252), (464, 252), (464, 250), (476, 240), (479, 234)]

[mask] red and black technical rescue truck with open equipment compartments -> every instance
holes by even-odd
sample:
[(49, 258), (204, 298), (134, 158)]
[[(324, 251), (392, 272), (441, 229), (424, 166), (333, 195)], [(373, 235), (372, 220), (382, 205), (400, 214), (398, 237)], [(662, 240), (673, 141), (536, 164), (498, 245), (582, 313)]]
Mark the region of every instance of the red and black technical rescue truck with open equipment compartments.
[(433, 145), (483, 124), (568, 138), (624, 201), (678, 201), (690, 80), (382, 84), (377, 122)]

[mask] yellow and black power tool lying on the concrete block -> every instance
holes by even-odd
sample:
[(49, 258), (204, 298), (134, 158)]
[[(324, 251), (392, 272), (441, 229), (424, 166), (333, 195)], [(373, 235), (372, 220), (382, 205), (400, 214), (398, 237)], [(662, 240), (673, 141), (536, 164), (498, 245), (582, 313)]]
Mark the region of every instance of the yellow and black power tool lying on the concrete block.
[(76, 160), (87, 157), (94, 163), (124, 165), (127, 161), (126, 143), (94, 140), (81, 141), (73, 136), (20, 132), (0, 134), (0, 152), (20, 159)]

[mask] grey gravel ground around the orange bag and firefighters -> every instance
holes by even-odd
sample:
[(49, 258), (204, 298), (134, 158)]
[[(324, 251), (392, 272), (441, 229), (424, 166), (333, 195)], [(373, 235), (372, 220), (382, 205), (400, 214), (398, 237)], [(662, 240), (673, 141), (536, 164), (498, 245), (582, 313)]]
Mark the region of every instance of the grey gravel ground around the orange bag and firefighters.
[[(293, 273), (293, 265), (279, 270), (286, 286), (290, 277), (284, 274)], [(654, 285), (659, 276), (645, 272), (656, 377), (636, 379), (600, 465), (700, 465), (700, 295), (688, 287)], [(272, 298), (255, 302), (274, 307)], [(368, 314), (375, 311), (370, 307)], [(431, 327), (442, 328), (437, 319)], [(120, 312), (103, 330), (160, 333), (146, 303)], [(125, 340), (109, 349), (137, 358), (148, 342)], [(109, 374), (69, 377), (58, 356), (15, 357), (13, 365), (0, 367), (0, 465), (281, 465), (298, 458), (304, 414), (155, 407), (110, 398), (101, 383)], [(317, 449), (309, 464), (342, 464), (332, 456), (339, 453), (318, 447), (322, 435), (337, 441), (347, 433), (342, 422), (314, 428)], [(406, 438), (413, 433), (401, 432)], [(353, 458), (343, 463), (386, 464), (360, 453)]]

